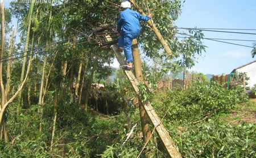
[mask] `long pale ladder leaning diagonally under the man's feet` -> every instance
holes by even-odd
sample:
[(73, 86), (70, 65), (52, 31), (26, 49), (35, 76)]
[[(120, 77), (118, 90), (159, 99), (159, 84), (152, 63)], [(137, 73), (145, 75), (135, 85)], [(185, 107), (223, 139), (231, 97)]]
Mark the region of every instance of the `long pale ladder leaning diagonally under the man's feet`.
[[(106, 36), (106, 39), (111, 40), (110, 36)], [(110, 48), (115, 53), (115, 57), (120, 65), (126, 65), (126, 61), (123, 59), (122, 54), (118, 52), (116, 45), (111, 45)], [(138, 81), (133, 75), (133, 72), (124, 70), (127, 78), (130, 80), (131, 86), (136, 93), (138, 93)], [(161, 142), (163, 143), (164, 147), (166, 148), (168, 155), (170, 157), (181, 157), (177, 147), (175, 146), (174, 142), (172, 141), (171, 136), (168, 134), (168, 131), (164, 127), (162, 121), (160, 121), (158, 115), (155, 113), (155, 110), (151, 106), (148, 100), (141, 100), (144, 110), (147, 113), (151, 123), (154, 125), (156, 133), (158, 134)]]

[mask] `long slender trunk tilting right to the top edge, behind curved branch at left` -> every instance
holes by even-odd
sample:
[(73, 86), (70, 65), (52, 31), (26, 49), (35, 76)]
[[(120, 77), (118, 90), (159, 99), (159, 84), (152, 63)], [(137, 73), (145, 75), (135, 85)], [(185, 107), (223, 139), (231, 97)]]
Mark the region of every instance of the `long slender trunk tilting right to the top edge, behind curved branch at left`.
[[(32, 0), (31, 5), (30, 5), (30, 14), (28, 16), (28, 27), (27, 27), (27, 37), (26, 37), (26, 44), (24, 48), (24, 57), (23, 57), (23, 64), (22, 64), (22, 72), (20, 75), (20, 83), (23, 82), (24, 79), (24, 74), (25, 74), (25, 68), (26, 68), (26, 62), (27, 62), (27, 51), (28, 51), (28, 43), (30, 40), (30, 28), (31, 28), (31, 20), (32, 20), (32, 12), (34, 9), (34, 3), (35, 0)], [(22, 107), (22, 91), (19, 92), (19, 104), (17, 107), (17, 113), (16, 113), (16, 118), (19, 117), (19, 111), (20, 108)]]

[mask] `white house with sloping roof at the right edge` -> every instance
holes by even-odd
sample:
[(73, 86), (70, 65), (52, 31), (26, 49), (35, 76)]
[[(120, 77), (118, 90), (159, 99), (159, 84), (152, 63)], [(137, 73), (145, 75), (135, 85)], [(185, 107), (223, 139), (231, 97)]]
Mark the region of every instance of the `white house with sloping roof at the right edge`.
[(256, 84), (256, 60), (252, 61), (250, 63), (247, 63), (245, 65), (242, 65), (240, 67), (237, 67), (234, 69), (231, 73), (233, 72), (245, 72), (247, 77), (250, 79), (247, 80), (247, 87), (253, 87), (254, 84)]

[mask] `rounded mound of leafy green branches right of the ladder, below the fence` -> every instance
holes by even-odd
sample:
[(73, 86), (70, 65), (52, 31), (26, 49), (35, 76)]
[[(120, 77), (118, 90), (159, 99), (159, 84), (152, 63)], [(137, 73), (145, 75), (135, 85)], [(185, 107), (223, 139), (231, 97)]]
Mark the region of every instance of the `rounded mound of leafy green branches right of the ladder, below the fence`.
[(218, 83), (205, 82), (193, 83), (185, 91), (169, 92), (164, 104), (171, 106), (172, 110), (167, 114), (171, 120), (196, 121), (201, 117), (228, 113), (244, 99), (241, 87), (228, 90)]

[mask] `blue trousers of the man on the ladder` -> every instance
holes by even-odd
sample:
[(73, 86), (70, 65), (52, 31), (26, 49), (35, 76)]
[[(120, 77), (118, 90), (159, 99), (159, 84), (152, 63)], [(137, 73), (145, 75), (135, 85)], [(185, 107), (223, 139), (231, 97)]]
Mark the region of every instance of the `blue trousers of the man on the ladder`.
[(119, 37), (118, 46), (125, 48), (126, 62), (133, 62), (133, 53), (131, 52), (131, 43), (136, 39), (139, 33), (123, 33)]

